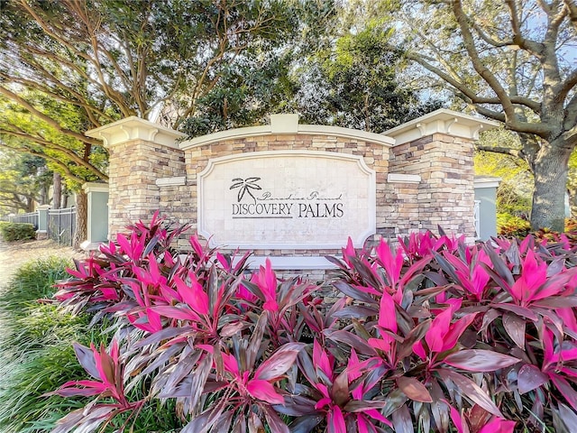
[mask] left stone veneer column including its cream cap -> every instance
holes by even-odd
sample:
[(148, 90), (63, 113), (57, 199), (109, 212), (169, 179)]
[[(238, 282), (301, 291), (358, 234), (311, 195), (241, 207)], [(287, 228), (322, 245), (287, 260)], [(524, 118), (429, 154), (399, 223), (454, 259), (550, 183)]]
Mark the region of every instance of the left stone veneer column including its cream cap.
[(159, 209), (157, 180), (185, 176), (184, 153), (176, 143), (185, 134), (134, 116), (86, 134), (103, 140), (110, 154), (108, 233), (113, 237)]

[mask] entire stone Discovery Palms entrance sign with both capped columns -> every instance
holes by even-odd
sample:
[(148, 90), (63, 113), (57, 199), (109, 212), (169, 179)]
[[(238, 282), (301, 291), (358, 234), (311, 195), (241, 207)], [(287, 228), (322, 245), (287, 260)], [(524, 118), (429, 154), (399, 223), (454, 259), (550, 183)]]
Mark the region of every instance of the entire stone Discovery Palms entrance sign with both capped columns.
[(385, 134), (271, 115), (189, 140), (136, 117), (87, 135), (110, 152), (109, 235), (160, 210), (213, 246), (252, 250), (254, 266), (298, 271), (329, 267), (348, 237), (442, 226), (472, 241), (473, 143), (495, 126), (441, 109)]

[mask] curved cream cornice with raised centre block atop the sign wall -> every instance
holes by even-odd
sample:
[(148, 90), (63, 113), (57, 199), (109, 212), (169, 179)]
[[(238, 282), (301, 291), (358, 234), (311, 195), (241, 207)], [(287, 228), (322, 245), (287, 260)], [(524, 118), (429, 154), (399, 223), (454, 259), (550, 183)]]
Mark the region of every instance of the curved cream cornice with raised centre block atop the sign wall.
[(379, 143), (386, 147), (394, 145), (395, 141), (383, 134), (367, 133), (357, 129), (341, 128), (339, 126), (325, 126), (320, 124), (298, 124), (298, 115), (270, 115), (270, 124), (262, 126), (249, 126), (246, 128), (236, 128), (219, 133), (202, 135), (192, 140), (179, 143), (181, 150), (193, 147), (205, 146), (224, 140), (234, 140), (244, 137), (254, 137), (260, 135), (330, 135), (336, 137), (349, 138), (353, 140), (364, 140), (371, 143)]

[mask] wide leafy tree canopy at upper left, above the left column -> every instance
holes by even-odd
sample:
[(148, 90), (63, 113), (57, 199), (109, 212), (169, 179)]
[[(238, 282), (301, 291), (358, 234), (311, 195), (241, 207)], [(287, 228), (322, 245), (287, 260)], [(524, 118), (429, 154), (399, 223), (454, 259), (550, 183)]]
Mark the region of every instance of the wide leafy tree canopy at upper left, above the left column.
[(2, 0), (0, 146), (50, 161), (82, 195), (107, 180), (106, 150), (84, 132), (131, 115), (206, 119), (231, 71), (274, 64), (332, 14), (298, 0)]

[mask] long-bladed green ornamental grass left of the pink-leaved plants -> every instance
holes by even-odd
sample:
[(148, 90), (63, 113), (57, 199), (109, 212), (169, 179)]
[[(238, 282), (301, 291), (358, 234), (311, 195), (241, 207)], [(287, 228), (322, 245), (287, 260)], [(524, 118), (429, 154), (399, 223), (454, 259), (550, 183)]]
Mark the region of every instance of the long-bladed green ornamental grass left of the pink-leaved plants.
[(87, 318), (37, 299), (54, 293), (54, 282), (67, 275), (70, 263), (56, 257), (34, 260), (14, 272), (12, 281), (5, 281), (0, 299), (1, 431), (25, 431), (42, 414), (61, 417), (68, 409), (56, 398), (43, 401), (40, 396), (79, 377), (81, 368), (70, 345), (77, 339), (89, 341)]

